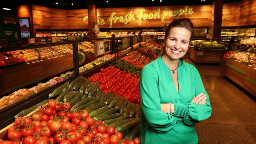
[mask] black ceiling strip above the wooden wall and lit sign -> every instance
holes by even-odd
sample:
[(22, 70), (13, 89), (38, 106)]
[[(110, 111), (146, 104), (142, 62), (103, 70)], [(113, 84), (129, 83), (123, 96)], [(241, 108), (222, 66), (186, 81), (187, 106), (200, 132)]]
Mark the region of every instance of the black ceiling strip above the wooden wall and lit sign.
[[(95, 3), (97, 8), (107, 7), (142, 7), (142, 6), (193, 6), (212, 5), (213, 0), (6, 0), (0, 5), (0, 13), (14, 14), (14, 7), (21, 4), (35, 4), (56, 9), (87, 9), (89, 3)], [(242, 0), (223, 0), (224, 3), (240, 2)], [(56, 4), (58, 2), (58, 4)], [(71, 5), (73, 4), (73, 5)], [(3, 10), (11, 8), (11, 11)]]

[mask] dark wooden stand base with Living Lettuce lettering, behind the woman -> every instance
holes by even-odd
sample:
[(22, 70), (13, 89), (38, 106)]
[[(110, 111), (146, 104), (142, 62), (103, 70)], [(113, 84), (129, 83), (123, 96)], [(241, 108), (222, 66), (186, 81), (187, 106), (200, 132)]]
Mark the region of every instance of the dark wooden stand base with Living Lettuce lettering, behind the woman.
[(196, 50), (189, 48), (189, 58), (195, 63), (221, 64), (224, 50)]

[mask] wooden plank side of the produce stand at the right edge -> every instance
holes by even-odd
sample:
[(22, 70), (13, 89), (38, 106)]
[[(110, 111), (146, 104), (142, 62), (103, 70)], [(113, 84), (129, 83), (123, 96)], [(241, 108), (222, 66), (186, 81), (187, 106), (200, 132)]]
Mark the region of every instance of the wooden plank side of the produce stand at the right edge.
[(221, 75), (226, 76), (256, 97), (256, 68), (249, 67), (232, 59), (223, 61)]

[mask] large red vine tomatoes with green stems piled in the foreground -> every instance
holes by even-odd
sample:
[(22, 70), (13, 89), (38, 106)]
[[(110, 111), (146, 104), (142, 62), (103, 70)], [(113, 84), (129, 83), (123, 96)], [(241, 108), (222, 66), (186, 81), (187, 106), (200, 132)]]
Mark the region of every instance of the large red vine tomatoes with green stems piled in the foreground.
[(0, 144), (139, 144), (139, 138), (122, 139), (122, 133), (86, 110), (70, 111), (68, 102), (50, 100), (32, 117), (18, 117)]

